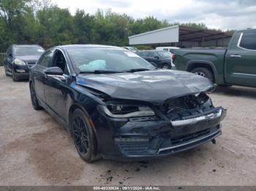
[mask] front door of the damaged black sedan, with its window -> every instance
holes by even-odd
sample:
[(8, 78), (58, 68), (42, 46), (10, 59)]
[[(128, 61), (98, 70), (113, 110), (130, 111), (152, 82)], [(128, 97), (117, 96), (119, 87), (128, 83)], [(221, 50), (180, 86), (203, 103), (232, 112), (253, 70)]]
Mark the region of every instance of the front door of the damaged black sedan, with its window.
[(68, 100), (69, 70), (67, 61), (60, 50), (56, 50), (51, 62), (51, 67), (59, 67), (64, 74), (62, 76), (48, 76), (45, 83), (46, 102), (53, 112), (66, 121), (66, 106)]

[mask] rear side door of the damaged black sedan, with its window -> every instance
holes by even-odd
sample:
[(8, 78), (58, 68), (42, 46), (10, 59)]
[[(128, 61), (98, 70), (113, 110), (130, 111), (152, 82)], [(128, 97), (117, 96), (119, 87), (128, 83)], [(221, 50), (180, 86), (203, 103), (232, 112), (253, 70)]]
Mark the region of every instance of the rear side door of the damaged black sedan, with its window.
[(45, 69), (47, 69), (50, 66), (50, 61), (52, 61), (53, 58), (53, 50), (46, 51), (39, 61), (37, 62), (37, 66), (34, 68), (34, 88), (37, 93), (37, 98), (40, 99), (40, 101), (43, 101), (46, 103), (45, 98), (45, 81), (46, 81), (46, 75), (45, 75)]

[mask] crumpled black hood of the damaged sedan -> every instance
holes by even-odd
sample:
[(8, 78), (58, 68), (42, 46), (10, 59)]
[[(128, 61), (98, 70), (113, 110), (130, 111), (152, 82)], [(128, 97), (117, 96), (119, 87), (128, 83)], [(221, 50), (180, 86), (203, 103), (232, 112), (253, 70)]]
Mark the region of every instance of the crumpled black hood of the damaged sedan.
[(147, 101), (155, 105), (164, 104), (168, 98), (206, 92), (214, 87), (205, 77), (175, 70), (79, 74), (76, 83), (112, 98)]

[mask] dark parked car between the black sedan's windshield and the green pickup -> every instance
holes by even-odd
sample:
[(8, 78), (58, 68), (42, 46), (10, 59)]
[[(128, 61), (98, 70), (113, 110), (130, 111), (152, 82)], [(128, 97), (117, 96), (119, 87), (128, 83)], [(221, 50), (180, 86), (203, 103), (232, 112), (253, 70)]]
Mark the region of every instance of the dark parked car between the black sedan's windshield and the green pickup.
[(142, 58), (150, 63), (154, 63), (159, 69), (171, 69), (172, 55), (165, 50), (144, 50), (138, 52)]

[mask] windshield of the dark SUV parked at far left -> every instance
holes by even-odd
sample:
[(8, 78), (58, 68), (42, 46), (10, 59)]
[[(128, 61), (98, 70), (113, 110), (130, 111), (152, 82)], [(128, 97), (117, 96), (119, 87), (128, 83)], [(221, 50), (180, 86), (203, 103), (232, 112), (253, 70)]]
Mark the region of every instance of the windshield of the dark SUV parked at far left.
[(31, 46), (31, 47), (15, 47), (15, 55), (25, 56), (25, 55), (42, 55), (45, 50), (42, 47)]

